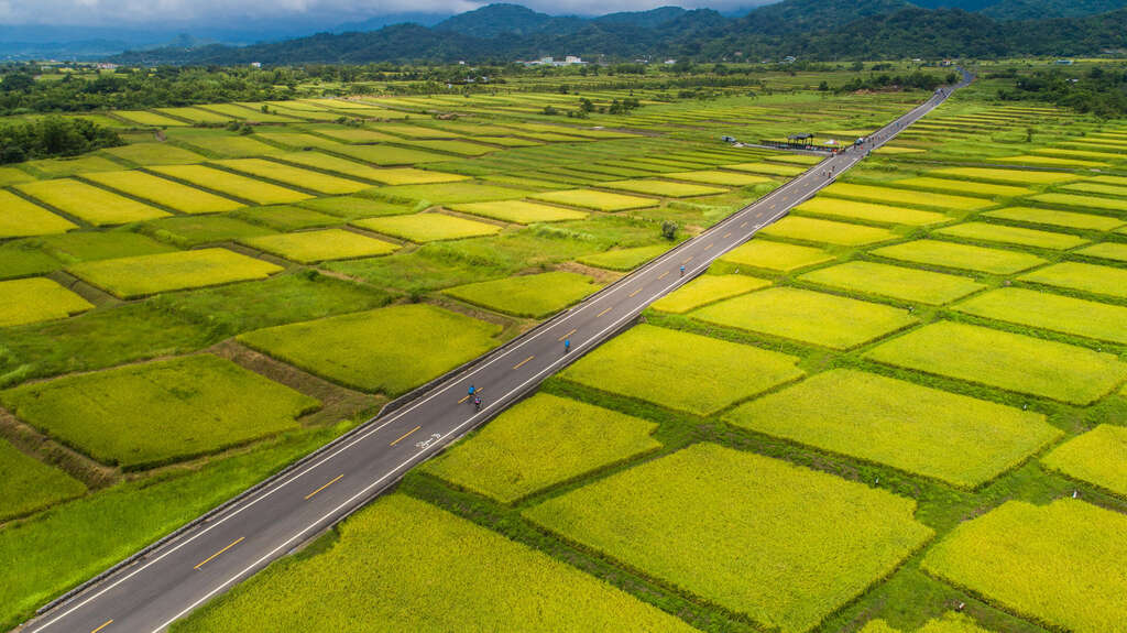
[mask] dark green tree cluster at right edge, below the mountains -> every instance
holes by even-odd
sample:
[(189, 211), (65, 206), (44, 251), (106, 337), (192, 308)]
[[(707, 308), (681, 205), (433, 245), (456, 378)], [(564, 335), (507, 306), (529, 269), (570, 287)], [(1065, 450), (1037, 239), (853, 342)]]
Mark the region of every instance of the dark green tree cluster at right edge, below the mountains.
[[(1015, 71), (1002, 74), (1015, 75)], [(1017, 77), (1014, 88), (1001, 89), (1002, 100), (1036, 99), (1103, 118), (1127, 116), (1127, 70), (1093, 66), (1082, 74), (1058, 69)]]

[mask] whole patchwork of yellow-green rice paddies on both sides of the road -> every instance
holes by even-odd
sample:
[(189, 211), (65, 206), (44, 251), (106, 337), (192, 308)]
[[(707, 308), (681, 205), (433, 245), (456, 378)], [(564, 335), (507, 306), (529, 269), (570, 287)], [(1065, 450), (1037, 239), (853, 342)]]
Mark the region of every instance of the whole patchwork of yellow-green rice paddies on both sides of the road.
[[(0, 168), (0, 624), (820, 161), (720, 134), (926, 97), (854, 74), (131, 110)], [(1127, 122), (999, 81), (174, 630), (1121, 631)]]

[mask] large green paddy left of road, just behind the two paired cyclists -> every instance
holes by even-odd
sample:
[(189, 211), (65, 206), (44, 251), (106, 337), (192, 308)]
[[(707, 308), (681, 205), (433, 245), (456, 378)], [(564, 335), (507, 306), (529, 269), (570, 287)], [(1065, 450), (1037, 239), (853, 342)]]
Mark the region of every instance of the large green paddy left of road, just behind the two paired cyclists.
[(330, 381), (399, 395), (489, 351), (499, 332), (500, 326), (417, 303), (255, 330), (239, 340)]

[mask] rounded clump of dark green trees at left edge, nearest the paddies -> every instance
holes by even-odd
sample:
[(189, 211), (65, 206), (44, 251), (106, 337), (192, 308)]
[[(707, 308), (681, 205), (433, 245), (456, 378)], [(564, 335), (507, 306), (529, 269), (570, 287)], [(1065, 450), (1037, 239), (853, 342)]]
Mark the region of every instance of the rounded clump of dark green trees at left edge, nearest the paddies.
[(80, 118), (48, 116), (0, 125), (0, 163), (72, 157), (124, 144), (116, 132)]

